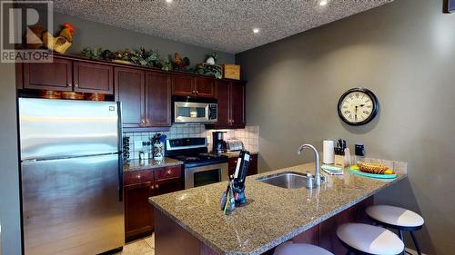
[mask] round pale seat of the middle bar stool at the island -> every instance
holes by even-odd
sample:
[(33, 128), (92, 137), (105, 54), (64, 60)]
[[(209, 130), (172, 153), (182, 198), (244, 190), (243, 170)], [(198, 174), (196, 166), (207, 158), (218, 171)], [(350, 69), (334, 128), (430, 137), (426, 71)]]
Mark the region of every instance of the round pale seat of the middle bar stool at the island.
[(396, 255), (404, 250), (403, 241), (392, 231), (368, 224), (343, 224), (337, 235), (347, 246), (369, 254)]

